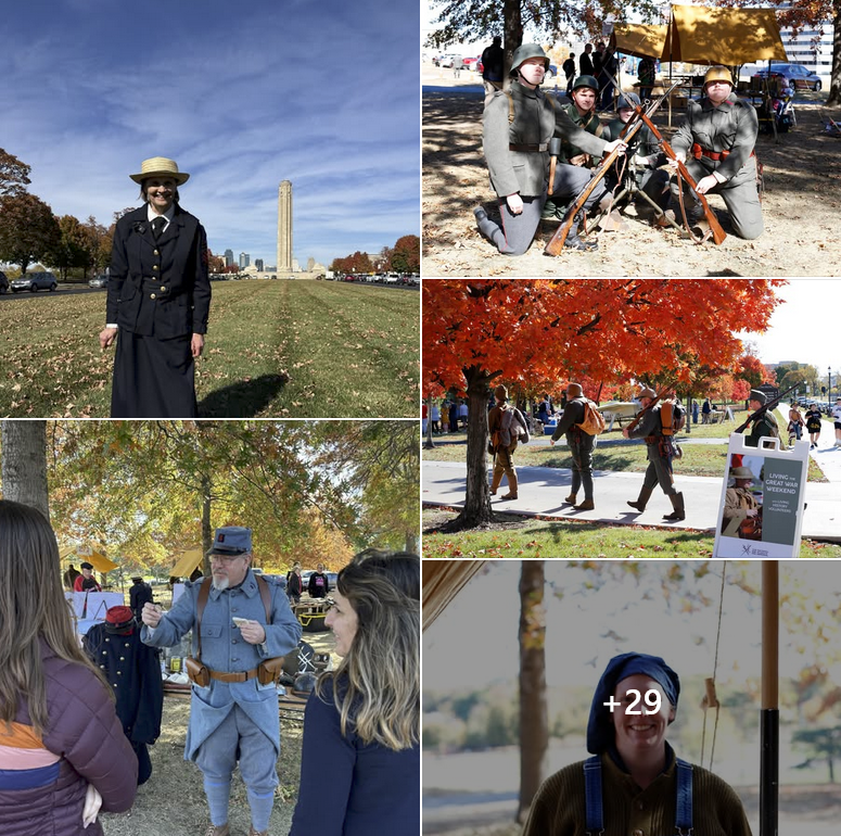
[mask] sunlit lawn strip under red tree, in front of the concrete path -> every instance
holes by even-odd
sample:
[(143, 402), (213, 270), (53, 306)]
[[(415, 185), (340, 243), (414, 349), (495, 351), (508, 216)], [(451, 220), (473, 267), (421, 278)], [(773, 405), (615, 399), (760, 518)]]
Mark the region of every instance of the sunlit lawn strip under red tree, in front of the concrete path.
[[(603, 522), (538, 520), (513, 514), (495, 515), (498, 522), (489, 529), (457, 534), (430, 532), (454, 512), (428, 509), (423, 512), (424, 558), (480, 557), (711, 557), (715, 535), (698, 531), (666, 531), (641, 525), (609, 525)], [(801, 557), (841, 557), (841, 545), (804, 540)]]

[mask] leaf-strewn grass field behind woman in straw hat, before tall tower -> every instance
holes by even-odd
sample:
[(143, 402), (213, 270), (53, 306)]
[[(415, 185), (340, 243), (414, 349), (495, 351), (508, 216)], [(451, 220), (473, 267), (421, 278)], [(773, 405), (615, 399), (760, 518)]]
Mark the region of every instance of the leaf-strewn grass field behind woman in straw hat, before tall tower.
[[(207, 418), (418, 416), (420, 294), (297, 281), (213, 284), (199, 414)], [(0, 416), (109, 417), (105, 294), (0, 304)]]

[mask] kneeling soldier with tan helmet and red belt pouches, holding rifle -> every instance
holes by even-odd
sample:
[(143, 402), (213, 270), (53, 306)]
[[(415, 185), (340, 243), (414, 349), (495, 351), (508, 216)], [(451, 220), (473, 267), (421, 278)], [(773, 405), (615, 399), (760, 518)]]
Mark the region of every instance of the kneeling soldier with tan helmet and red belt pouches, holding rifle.
[[(721, 194), (730, 213), (734, 232), (744, 239), (763, 231), (762, 204), (756, 189), (754, 145), (760, 123), (753, 105), (731, 97), (732, 76), (714, 66), (704, 76), (703, 96), (691, 101), (672, 148), (695, 178), (700, 194)], [(687, 208), (690, 223), (701, 219), (701, 207)]]

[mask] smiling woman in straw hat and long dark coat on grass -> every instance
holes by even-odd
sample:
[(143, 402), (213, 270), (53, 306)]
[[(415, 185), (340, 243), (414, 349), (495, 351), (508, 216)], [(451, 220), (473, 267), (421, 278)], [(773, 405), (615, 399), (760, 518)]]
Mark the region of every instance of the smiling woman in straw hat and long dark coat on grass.
[(114, 230), (107, 325), (100, 333), (103, 349), (117, 343), (111, 417), (193, 418), (194, 360), (211, 307), (207, 237), (178, 203), (178, 187), (190, 175), (175, 161), (144, 160), (130, 177), (145, 204)]

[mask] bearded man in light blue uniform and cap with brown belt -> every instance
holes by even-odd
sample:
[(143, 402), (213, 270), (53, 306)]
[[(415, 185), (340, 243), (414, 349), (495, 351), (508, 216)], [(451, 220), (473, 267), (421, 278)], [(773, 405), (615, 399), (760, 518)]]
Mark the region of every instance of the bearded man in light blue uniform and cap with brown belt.
[(228, 799), (239, 759), (251, 808), (250, 836), (266, 836), (278, 785), (280, 720), (276, 677), (301, 639), (283, 590), (251, 571), (251, 529), (216, 530), (213, 578), (187, 583), (163, 615), (143, 606), (141, 639), (171, 647), (193, 629), (187, 660), (192, 701), (184, 760), (204, 774), (211, 808), (207, 836), (229, 836)]

